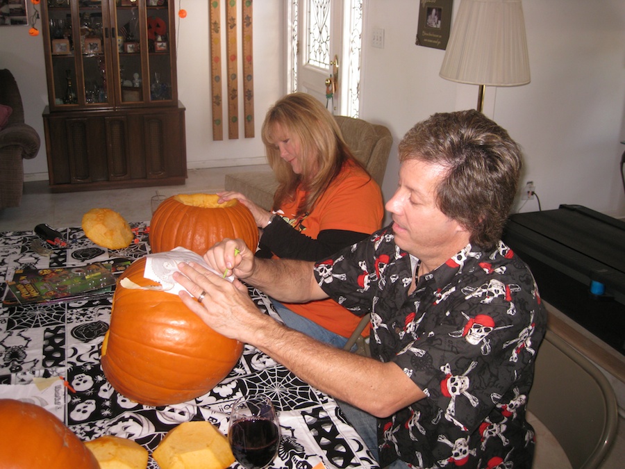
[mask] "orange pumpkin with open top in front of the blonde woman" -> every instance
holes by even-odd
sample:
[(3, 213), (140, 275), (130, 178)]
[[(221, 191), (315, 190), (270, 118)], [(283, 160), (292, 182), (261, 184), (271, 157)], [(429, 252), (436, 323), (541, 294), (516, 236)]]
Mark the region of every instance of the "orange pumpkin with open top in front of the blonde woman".
[(252, 251), (258, 245), (258, 227), (249, 208), (233, 199), (218, 204), (217, 194), (180, 194), (165, 199), (150, 222), (152, 252), (182, 246), (201, 256), (215, 242), (241, 238)]

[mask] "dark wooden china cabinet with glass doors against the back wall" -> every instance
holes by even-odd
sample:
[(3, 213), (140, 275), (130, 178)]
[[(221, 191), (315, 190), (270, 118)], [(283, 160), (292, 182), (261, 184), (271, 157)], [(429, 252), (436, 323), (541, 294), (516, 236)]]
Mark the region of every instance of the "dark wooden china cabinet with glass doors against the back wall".
[(185, 183), (174, 0), (41, 5), (51, 190)]

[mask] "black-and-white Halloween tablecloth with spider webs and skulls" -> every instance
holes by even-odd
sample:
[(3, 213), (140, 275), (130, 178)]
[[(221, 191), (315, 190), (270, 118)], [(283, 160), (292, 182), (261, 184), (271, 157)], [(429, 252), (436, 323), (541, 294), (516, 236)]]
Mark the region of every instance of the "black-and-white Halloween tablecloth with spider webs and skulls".
[[(131, 223), (135, 240), (126, 249), (110, 251), (94, 245), (78, 228), (61, 230), (67, 248), (50, 256), (35, 254), (32, 231), (1, 234), (0, 293), (17, 268), (51, 268), (133, 261), (149, 254), (149, 227)], [(269, 299), (249, 288), (261, 311), (279, 319)], [(105, 434), (130, 438), (151, 458), (167, 431), (188, 420), (208, 420), (226, 434), (233, 402), (242, 395), (263, 393), (278, 411), (281, 443), (273, 468), (377, 468), (369, 450), (344, 419), (336, 402), (308, 386), (255, 347), (246, 345), (231, 373), (206, 395), (183, 404), (152, 407), (128, 400), (103, 375), (100, 347), (108, 330), (112, 293), (94, 299), (50, 305), (3, 306), (0, 309), (0, 398), (22, 398), (55, 413), (81, 439)], [(60, 377), (63, 377), (61, 379)], [(35, 383), (46, 381), (42, 390)], [(234, 463), (232, 468), (241, 468)]]

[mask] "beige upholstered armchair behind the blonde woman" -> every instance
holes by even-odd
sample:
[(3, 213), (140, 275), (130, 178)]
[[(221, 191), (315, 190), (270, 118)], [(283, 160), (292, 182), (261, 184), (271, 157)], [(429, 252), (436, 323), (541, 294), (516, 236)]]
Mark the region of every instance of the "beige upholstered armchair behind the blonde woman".
[[(372, 178), (382, 186), (393, 137), (383, 125), (370, 124), (362, 119), (337, 115), (334, 117), (343, 138)], [(248, 199), (271, 210), (278, 182), (269, 170), (226, 174), (226, 190), (241, 192)]]

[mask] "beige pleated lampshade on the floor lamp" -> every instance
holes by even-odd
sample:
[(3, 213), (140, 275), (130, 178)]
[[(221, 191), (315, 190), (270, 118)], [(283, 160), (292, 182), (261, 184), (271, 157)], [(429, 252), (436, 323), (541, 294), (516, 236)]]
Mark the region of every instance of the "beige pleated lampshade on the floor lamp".
[(440, 76), (472, 85), (529, 83), (521, 0), (462, 0)]

